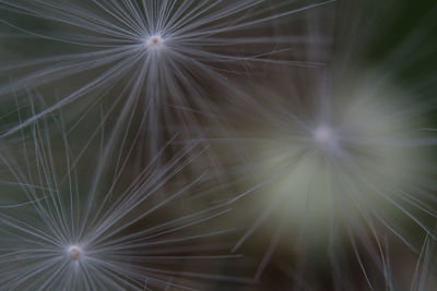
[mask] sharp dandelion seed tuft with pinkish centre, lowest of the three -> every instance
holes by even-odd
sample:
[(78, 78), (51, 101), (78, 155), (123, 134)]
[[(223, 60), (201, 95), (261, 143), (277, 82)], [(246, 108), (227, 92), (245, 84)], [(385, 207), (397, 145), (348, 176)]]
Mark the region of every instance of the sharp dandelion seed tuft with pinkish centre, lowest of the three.
[[(204, 267), (199, 271), (193, 264), (239, 257), (223, 254), (223, 246), (201, 244), (232, 231), (202, 229), (229, 208), (217, 205), (179, 211), (176, 207), (202, 180), (200, 175), (176, 189), (169, 185), (196, 157), (193, 151), (204, 150), (197, 143), (160, 165), (162, 168), (155, 157), (138, 175), (125, 177), (132, 157), (121, 153), (132, 153), (131, 145), (113, 153), (126, 158), (119, 163), (101, 160), (104, 155), (93, 151), (73, 162), (64, 123), (54, 122), (61, 132), (60, 141), (54, 138), (57, 131), (49, 131), (48, 122), (36, 122), (31, 128), (32, 138), (23, 131), (17, 145), (0, 151), (1, 180), (11, 182), (0, 197), (2, 203), (10, 201), (0, 205), (1, 289), (141, 290), (146, 281), (154, 290), (192, 290), (201, 286), (196, 278), (243, 280), (214, 275)], [(94, 142), (105, 144), (103, 137)], [(52, 150), (59, 146), (63, 150)], [(90, 143), (85, 146), (90, 150)], [(96, 165), (90, 180), (79, 171), (82, 161), (86, 167)], [(194, 266), (192, 271), (188, 263)], [(180, 271), (182, 267), (185, 271)]]

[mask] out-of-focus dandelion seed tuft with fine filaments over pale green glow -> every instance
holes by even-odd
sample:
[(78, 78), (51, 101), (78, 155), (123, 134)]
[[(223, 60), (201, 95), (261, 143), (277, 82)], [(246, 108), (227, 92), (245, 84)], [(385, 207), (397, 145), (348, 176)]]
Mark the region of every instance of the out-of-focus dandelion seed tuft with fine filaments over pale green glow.
[[(376, 74), (368, 74), (370, 81)], [(437, 198), (435, 183), (429, 180), (436, 172), (432, 150), (437, 138), (432, 131), (420, 130), (426, 122), (422, 116), (435, 110), (435, 105), (414, 104), (412, 96), (388, 84), (374, 87), (370, 95), (370, 81), (364, 76), (359, 81), (351, 81), (354, 87), (350, 87), (342, 80), (323, 110), (305, 108), (304, 97), (284, 98), (270, 87), (257, 87), (259, 96), (269, 96), (269, 105), (255, 97), (260, 102), (253, 104), (252, 112), (248, 108), (246, 112), (251, 112), (251, 122), (259, 125), (250, 129), (248, 141), (225, 138), (238, 143), (237, 148), (245, 151), (237, 151), (237, 157), (250, 161), (232, 163), (229, 168), (236, 172), (233, 178), (240, 183), (251, 178), (255, 181), (231, 203), (246, 205), (249, 196), (263, 202), (260, 206), (251, 204), (261, 208), (259, 216), (233, 250), (250, 244), (257, 231), (272, 237), (255, 279), (260, 279), (281, 245), (296, 255), (305, 254), (303, 262), (311, 260), (311, 253), (323, 254), (329, 246), (326, 255), (335, 269), (334, 279), (344, 280), (351, 263), (343, 260), (347, 254), (339, 248), (352, 245), (368, 287), (378, 289), (380, 281), (392, 284), (395, 280), (388, 271), (387, 231), (391, 240), (411, 252), (418, 252), (420, 243), (405, 225), (437, 239), (433, 234)], [(284, 89), (286, 85), (277, 87)], [(293, 84), (288, 87), (288, 92), (297, 92)], [(293, 101), (287, 107), (284, 99)], [(328, 108), (331, 111), (327, 113)], [(322, 113), (303, 114), (297, 109)], [(319, 122), (323, 117), (332, 119)], [(355, 287), (345, 282), (345, 288)]]

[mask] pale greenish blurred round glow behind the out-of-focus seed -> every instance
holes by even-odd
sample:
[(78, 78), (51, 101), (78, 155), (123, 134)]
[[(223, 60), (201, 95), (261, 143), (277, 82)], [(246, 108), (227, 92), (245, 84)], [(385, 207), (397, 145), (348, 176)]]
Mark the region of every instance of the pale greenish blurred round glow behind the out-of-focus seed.
[[(271, 123), (269, 128), (258, 126), (265, 129), (263, 132), (253, 130), (255, 136), (262, 136), (253, 143), (253, 159), (260, 166), (253, 184), (267, 189), (255, 207), (265, 209), (264, 217), (271, 211), (265, 225), (284, 221), (293, 231), (305, 227), (306, 250), (326, 248), (331, 239), (331, 219), (344, 226), (335, 230), (338, 243), (347, 241), (347, 228), (367, 222), (368, 217), (363, 219), (357, 207), (383, 214), (381, 219), (392, 223), (400, 221), (395, 215), (409, 217), (410, 222), (427, 231), (427, 226), (414, 216), (414, 207), (422, 207), (420, 199), (424, 199), (416, 186), (423, 184), (424, 173), (429, 174), (425, 168), (434, 167), (427, 165), (426, 147), (435, 140), (420, 130), (425, 122), (418, 114), (423, 107), (417, 108), (410, 100), (410, 92), (393, 84), (369, 92), (370, 81), (358, 80), (350, 81), (351, 85), (343, 82), (344, 87), (326, 100), (328, 105), (315, 104), (305, 112), (296, 110), (305, 108), (305, 101), (290, 97), (293, 102), (287, 108), (280, 99), (287, 95), (257, 88), (262, 94), (256, 99), (269, 95), (274, 109), (260, 107), (258, 112), (265, 113)], [(403, 195), (412, 199), (410, 205), (399, 202)], [(264, 208), (265, 201), (271, 201), (272, 208)], [(423, 211), (429, 215), (426, 208)], [(272, 235), (272, 226), (263, 228), (259, 220), (256, 223), (265, 235)]]

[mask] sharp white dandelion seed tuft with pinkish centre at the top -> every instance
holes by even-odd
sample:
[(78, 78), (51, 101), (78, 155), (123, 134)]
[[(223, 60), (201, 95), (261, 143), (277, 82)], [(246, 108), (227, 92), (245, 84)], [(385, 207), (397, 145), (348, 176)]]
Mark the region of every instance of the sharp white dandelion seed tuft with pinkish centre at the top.
[[(67, 49), (71, 46), (85, 49), (80, 53), (7, 65), (9, 72), (20, 68), (32, 69), (29, 74), (13, 82), (15, 89), (24, 86), (39, 88), (66, 78), (70, 82), (79, 80), (84, 73), (94, 75), (46, 110), (4, 134), (12, 134), (74, 100), (80, 99), (88, 108), (102, 104), (99, 97), (91, 99), (90, 95), (110, 95), (119, 96), (111, 100), (114, 106), (110, 110), (123, 108), (119, 112), (120, 122), (131, 124), (134, 112), (147, 120), (147, 141), (156, 153), (164, 131), (172, 134), (188, 131), (189, 134), (196, 129), (197, 134), (201, 134), (199, 117), (192, 112), (216, 114), (215, 104), (209, 98), (212, 90), (228, 90), (223, 95), (237, 96), (226, 72), (244, 73), (250, 63), (321, 65), (319, 62), (291, 60), (286, 56), (281, 59), (283, 52), (290, 51), (291, 44), (306, 44), (310, 37), (296, 40), (293, 36), (258, 36), (257, 32), (274, 21), (333, 2), (306, 1), (296, 4), (295, 1), (283, 1), (272, 5), (261, 0), (129, 0), (121, 3), (92, 1), (84, 7), (71, 1), (29, 3), (1, 0), (1, 10), (17, 13), (17, 16), (43, 19), (54, 23), (55, 27), (62, 25), (71, 32), (52, 35), (17, 27), (7, 21), (3, 24), (40, 39), (68, 44)], [(247, 36), (249, 34), (251, 36)], [(281, 49), (276, 49), (277, 46)], [(11, 86), (0, 88), (1, 95), (10, 93)], [(172, 124), (176, 124), (176, 131)], [(120, 131), (122, 126), (115, 134)]]

